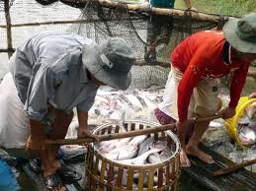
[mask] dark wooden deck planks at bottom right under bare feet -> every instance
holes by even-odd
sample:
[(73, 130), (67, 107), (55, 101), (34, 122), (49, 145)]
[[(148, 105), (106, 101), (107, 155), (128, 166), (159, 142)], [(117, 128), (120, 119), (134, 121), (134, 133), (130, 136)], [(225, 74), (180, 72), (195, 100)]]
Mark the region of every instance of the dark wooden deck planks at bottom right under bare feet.
[(213, 156), (215, 162), (206, 164), (200, 159), (191, 157), (192, 166), (184, 168), (185, 174), (206, 187), (208, 191), (254, 191), (256, 190), (256, 173), (246, 169), (240, 169), (218, 177), (213, 176), (213, 171), (233, 164), (229, 159), (213, 152), (211, 148), (202, 146), (202, 149)]

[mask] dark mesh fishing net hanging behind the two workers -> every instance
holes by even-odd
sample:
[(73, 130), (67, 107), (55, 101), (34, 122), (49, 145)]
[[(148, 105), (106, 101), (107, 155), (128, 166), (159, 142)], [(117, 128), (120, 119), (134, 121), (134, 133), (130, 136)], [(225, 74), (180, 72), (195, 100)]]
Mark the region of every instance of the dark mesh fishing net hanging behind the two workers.
[[(95, 0), (57, 2), (55, 0), (37, 0), (34, 3), (43, 5), (43, 8), (49, 6), (57, 8), (62, 4), (59, 2), (68, 5), (70, 9), (80, 10), (80, 16), (73, 20), (73, 24), (66, 24), (65, 28), (63, 27), (64, 24), (41, 25), (40, 27), (24, 26), (23, 29), (27, 30), (28, 33), (26, 38), (35, 32), (52, 30), (78, 33), (93, 38), (97, 42), (108, 36), (123, 37), (132, 47), (137, 58), (137, 63), (132, 68), (133, 79), (130, 88), (148, 88), (152, 85), (164, 86), (170, 69), (169, 57), (173, 48), (191, 33), (211, 30), (215, 27), (221, 29), (225, 22), (220, 17), (218, 23), (193, 19), (190, 12), (184, 12), (182, 16), (155, 15), (149, 11), (149, 7), (145, 7), (144, 11), (130, 11), (128, 3), (114, 1), (115, 6), (109, 6)], [(55, 10), (57, 11), (57, 9)], [(51, 13), (48, 14), (49, 18), (45, 18), (46, 21), (50, 21)], [(58, 21), (70, 20), (66, 19), (70, 16), (72, 16), (71, 11), (59, 16)], [(37, 18), (34, 21), (39, 20), (40, 18)], [(13, 31), (15, 32), (15, 30)], [(26, 38), (25, 36), (24, 39), (19, 38), (19, 43)], [(16, 42), (16, 39), (13, 41), (14, 48), (16, 48), (19, 43)]]

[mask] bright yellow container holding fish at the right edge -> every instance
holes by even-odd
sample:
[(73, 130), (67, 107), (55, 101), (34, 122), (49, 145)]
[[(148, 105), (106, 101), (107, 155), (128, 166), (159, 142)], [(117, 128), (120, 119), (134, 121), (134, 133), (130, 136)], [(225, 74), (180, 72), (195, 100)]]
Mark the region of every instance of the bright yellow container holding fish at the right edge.
[(225, 120), (225, 127), (227, 133), (231, 136), (236, 143), (241, 146), (243, 149), (247, 149), (246, 146), (242, 145), (237, 133), (237, 121), (239, 118), (243, 117), (245, 114), (245, 108), (249, 106), (252, 102), (256, 101), (256, 98), (249, 98), (248, 96), (242, 96), (239, 99), (239, 102), (235, 108), (236, 114), (229, 119)]

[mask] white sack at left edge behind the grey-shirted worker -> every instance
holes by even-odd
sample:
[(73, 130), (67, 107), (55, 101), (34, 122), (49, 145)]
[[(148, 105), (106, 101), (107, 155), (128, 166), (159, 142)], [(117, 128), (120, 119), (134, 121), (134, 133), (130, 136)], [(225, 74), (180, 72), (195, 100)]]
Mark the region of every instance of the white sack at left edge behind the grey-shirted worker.
[(11, 73), (0, 84), (0, 146), (21, 149), (30, 134), (29, 117), (18, 96)]

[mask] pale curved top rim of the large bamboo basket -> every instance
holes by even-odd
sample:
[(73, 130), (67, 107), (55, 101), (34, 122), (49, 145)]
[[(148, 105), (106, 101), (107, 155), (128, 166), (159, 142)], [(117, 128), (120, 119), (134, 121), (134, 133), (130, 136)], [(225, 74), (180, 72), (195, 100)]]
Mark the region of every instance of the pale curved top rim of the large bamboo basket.
[[(126, 122), (133, 122), (133, 123), (141, 123), (141, 124), (148, 124), (150, 126), (160, 126), (160, 123), (156, 123), (156, 122), (148, 122), (148, 121), (143, 121), (143, 120), (125, 120), (124, 121), (125, 123)], [(103, 124), (103, 125), (100, 125), (99, 127), (97, 127), (94, 131), (93, 131), (93, 134), (97, 133), (98, 131), (100, 131), (101, 129), (105, 128), (106, 126), (110, 126), (110, 125), (116, 125), (115, 122), (108, 122), (106, 124)], [(139, 167), (140, 169), (148, 169), (148, 166), (150, 167), (159, 167), (159, 165), (165, 165), (165, 164), (168, 164), (170, 163), (171, 161), (175, 161), (175, 159), (178, 157), (179, 158), (179, 153), (180, 153), (180, 141), (178, 139), (178, 137), (171, 131), (171, 130), (168, 130), (168, 131), (165, 131), (165, 133), (171, 137), (171, 139), (174, 141), (175, 143), (175, 152), (173, 153), (172, 157), (170, 157), (169, 159), (165, 159), (164, 161), (161, 161), (161, 162), (158, 162), (158, 163), (148, 163), (148, 164), (143, 164), (143, 165), (136, 165), (136, 164), (125, 164), (125, 163), (122, 163), (122, 162), (119, 162), (118, 160), (112, 160), (112, 159), (108, 159), (106, 157), (104, 157), (100, 152), (98, 152), (97, 150), (95, 150), (95, 147), (94, 147), (94, 143), (91, 143), (89, 146), (97, 151), (97, 156), (104, 160), (104, 161), (107, 161), (108, 163), (111, 163), (111, 164), (115, 164), (117, 166), (123, 166), (123, 167)]]

